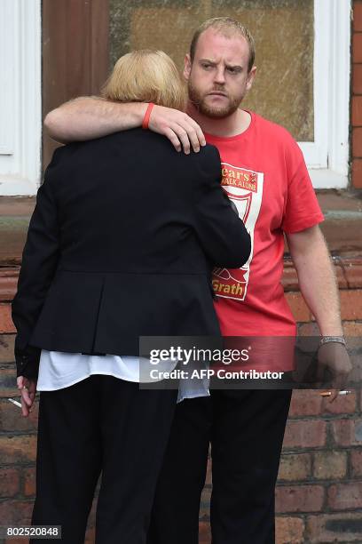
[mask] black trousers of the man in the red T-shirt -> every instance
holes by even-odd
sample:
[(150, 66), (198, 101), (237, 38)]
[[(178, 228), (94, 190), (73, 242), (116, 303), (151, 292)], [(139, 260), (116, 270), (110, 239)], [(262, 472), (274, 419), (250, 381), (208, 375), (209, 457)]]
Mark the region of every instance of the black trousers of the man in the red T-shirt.
[(209, 442), (213, 544), (273, 544), (291, 390), (214, 390), (177, 405), (148, 544), (197, 544)]

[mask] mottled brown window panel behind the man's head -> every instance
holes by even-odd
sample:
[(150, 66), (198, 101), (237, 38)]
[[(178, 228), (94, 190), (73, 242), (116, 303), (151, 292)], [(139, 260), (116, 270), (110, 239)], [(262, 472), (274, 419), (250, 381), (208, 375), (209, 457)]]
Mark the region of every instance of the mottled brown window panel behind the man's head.
[(169, 53), (182, 69), (194, 28), (209, 17), (240, 20), (256, 40), (256, 82), (244, 108), (314, 139), (313, 0), (110, 0), (110, 60), (138, 48)]

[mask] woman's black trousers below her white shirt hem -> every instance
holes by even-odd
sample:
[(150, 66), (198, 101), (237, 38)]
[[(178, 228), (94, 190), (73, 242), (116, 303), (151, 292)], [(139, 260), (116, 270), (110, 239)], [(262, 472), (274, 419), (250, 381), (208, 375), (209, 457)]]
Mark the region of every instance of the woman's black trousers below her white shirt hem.
[(62, 542), (83, 544), (102, 471), (97, 544), (145, 544), (176, 399), (105, 375), (41, 392), (32, 524), (61, 525)]

